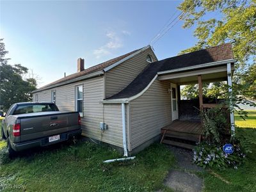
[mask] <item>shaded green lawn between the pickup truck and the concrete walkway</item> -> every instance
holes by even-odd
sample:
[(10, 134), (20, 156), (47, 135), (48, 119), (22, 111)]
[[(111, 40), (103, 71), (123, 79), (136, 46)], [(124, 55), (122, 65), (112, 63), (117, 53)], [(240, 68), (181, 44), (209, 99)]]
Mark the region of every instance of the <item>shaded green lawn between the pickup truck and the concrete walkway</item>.
[(102, 163), (120, 157), (112, 148), (85, 141), (68, 144), (40, 148), (14, 160), (2, 145), (0, 191), (1, 184), (26, 191), (154, 191), (165, 188), (164, 177), (174, 164), (170, 150), (160, 144), (143, 150), (134, 161), (113, 164)]

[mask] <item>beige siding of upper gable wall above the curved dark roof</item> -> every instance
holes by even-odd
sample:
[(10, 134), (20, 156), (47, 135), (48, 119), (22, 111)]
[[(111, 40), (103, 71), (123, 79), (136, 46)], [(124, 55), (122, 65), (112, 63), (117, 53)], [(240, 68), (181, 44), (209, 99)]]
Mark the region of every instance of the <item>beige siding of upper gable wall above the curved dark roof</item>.
[(147, 67), (148, 54), (152, 56), (154, 61), (157, 61), (152, 49), (148, 48), (106, 72), (106, 97), (111, 97), (123, 90)]

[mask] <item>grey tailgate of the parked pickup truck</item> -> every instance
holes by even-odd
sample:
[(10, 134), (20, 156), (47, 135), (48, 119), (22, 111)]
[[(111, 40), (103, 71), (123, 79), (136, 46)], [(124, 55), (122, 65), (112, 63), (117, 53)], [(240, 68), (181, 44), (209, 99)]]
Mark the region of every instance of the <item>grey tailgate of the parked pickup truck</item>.
[(52, 114), (40, 113), (20, 116), (20, 141), (35, 140), (62, 132), (80, 129), (77, 112)]

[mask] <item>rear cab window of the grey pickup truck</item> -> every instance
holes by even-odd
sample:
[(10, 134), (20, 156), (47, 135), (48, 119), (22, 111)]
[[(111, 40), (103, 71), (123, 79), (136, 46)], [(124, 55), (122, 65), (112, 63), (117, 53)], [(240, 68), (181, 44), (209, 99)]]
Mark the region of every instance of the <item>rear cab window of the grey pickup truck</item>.
[(54, 104), (26, 104), (18, 106), (13, 112), (13, 115), (45, 111), (58, 111), (58, 108)]

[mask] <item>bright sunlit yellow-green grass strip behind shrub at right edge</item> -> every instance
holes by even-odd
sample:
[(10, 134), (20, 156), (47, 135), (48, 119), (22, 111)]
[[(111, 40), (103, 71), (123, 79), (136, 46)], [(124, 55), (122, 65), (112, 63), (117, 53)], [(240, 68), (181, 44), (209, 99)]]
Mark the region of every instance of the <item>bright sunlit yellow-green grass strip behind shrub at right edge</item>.
[(235, 122), (238, 127), (256, 128), (256, 111), (248, 111), (248, 117), (243, 120), (237, 113), (235, 114)]

